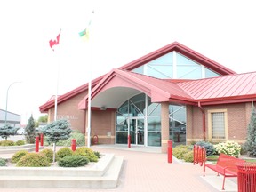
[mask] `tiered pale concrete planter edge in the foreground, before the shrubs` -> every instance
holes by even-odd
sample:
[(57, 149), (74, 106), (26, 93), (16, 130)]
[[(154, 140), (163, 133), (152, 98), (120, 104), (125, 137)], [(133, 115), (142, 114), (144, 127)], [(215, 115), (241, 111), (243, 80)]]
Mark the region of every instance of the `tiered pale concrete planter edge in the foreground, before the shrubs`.
[(116, 188), (124, 157), (105, 154), (84, 167), (0, 167), (2, 188)]

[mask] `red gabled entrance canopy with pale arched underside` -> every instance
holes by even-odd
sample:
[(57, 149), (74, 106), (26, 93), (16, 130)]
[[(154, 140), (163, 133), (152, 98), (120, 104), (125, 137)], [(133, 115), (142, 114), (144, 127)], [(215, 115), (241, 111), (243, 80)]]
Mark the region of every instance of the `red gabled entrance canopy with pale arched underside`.
[[(125, 100), (140, 92), (152, 102), (173, 101), (190, 103), (193, 99), (177, 84), (150, 76), (114, 68), (92, 89), (92, 108), (118, 108)], [(87, 108), (88, 96), (78, 108)]]

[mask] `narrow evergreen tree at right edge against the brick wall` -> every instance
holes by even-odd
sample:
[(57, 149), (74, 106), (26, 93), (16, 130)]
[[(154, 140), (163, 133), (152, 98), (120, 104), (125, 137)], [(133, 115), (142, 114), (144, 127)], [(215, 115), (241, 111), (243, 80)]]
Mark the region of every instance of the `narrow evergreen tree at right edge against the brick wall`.
[(244, 148), (248, 151), (249, 156), (256, 156), (256, 111), (252, 104), (251, 121), (247, 130), (247, 140), (244, 143)]

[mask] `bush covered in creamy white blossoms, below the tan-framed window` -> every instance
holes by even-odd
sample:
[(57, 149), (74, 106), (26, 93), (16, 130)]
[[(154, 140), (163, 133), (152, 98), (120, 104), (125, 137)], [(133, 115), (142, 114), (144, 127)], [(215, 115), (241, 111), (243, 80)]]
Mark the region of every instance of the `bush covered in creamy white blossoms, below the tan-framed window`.
[(227, 140), (226, 142), (220, 142), (214, 145), (214, 148), (218, 154), (223, 153), (228, 156), (240, 156), (241, 146), (234, 141)]

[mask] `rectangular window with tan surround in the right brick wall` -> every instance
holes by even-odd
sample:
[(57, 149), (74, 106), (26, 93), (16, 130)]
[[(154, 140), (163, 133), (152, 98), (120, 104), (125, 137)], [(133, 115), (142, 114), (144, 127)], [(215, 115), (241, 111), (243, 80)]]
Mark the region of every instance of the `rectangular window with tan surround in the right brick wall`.
[(227, 110), (209, 110), (208, 127), (210, 140), (226, 140), (228, 138)]

